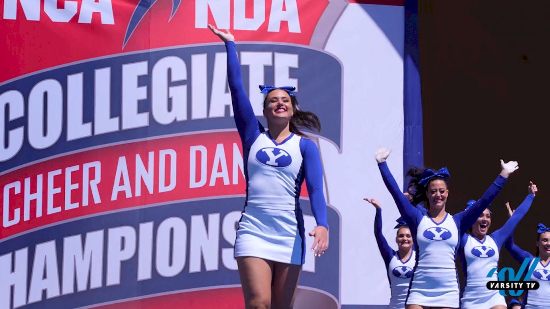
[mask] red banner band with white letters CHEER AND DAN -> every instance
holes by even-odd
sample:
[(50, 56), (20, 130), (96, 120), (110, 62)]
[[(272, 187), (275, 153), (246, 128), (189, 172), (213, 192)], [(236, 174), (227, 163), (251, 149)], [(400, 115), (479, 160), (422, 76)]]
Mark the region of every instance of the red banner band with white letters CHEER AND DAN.
[(232, 131), (97, 148), (15, 170), (0, 179), (0, 239), (116, 209), (244, 195), (241, 153)]

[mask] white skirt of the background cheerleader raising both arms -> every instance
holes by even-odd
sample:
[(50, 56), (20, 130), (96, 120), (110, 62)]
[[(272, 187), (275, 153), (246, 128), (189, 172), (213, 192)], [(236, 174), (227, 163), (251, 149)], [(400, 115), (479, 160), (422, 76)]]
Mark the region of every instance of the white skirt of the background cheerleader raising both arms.
[(459, 307), (456, 269), (416, 267), (407, 305)]

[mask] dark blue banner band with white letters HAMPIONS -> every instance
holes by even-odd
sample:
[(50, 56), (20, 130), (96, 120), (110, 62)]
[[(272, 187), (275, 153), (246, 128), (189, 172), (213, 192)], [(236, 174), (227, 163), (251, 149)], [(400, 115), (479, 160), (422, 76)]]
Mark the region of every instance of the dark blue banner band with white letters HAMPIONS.
[[(239, 197), (132, 209), (4, 241), (0, 267), (5, 269), (0, 273), (14, 271), (7, 279), (14, 284), (11, 304), (27, 300), (27, 308), (74, 308), (240, 284), (232, 249), (243, 203)], [(311, 216), (309, 201), (301, 204)], [(313, 263), (306, 259), (299, 284), (339, 299), (340, 219), (332, 208), (327, 212), (331, 249)], [(7, 298), (0, 301), (9, 302)]]

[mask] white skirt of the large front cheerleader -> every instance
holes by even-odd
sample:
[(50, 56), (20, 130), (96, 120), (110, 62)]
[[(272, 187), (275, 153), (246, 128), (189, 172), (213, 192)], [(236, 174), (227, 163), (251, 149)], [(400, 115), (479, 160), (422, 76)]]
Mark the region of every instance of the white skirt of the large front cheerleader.
[(246, 206), (239, 221), (235, 257), (304, 264), (304, 219), (296, 211)]

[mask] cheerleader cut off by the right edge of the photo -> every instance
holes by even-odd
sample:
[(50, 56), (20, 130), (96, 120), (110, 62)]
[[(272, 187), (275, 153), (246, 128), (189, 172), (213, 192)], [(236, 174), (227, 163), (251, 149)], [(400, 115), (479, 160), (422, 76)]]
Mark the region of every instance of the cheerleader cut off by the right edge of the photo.
[[(508, 214), (510, 217), (515, 216), (515, 211), (510, 208), (510, 203), (506, 203)], [(519, 210), (516, 209), (516, 211)], [(537, 262), (536, 257), (540, 258), (537, 262), (535, 271), (532, 273), (530, 281), (537, 281), (540, 286), (537, 290), (525, 291), (525, 309), (548, 309), (550, 308), (550, 228), (539, 223), (537, 226), (537, 252), (535, 256), (531, 253), (520, 249), (514, 244), (513, 235), (505, 242), (506, 249), (510, 251), (511, 256), (518, 263), (523, 263), (526, 258), (529, 258), (530, 269), (533, 262)]]

